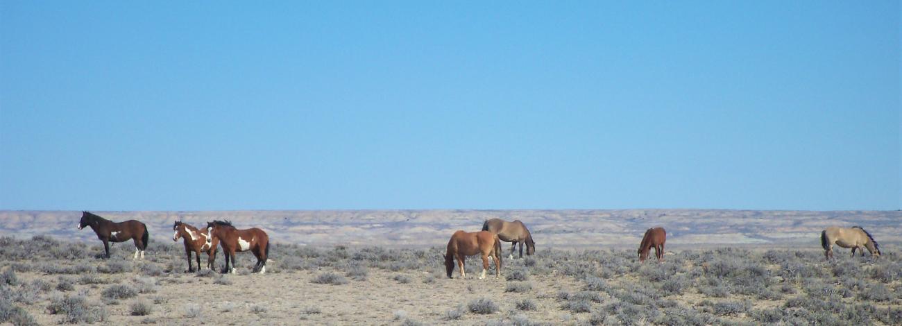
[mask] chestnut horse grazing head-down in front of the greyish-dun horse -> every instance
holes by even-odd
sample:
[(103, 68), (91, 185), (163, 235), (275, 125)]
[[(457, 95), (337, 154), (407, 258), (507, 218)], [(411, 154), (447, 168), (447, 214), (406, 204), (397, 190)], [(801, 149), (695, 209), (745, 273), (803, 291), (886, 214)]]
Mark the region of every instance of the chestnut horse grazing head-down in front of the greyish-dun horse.
[(454, 272), (454, 258), (457, 258), (457, 264), (460, 265), (460, 276), (464, 277), (464, 260), (467, 256), (480, 254), (483, 256), (483, 275), (479, 279), (485, 278), (485, 270), (489, 269), (489, 256), (495, 260), (495, 276), (502, 276), (502, 242), (498, 240), (498, 235), (489, 231), (465, 232), (456, 231), (448, 240), (448, 249), (445, 254), (445, 269), (448, 272), (448, 278)]

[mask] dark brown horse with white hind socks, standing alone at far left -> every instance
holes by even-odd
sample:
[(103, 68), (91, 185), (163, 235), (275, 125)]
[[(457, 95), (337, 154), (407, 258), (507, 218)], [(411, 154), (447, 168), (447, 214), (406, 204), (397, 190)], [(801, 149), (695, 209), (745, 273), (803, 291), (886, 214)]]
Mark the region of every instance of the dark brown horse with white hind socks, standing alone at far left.
[(81, 211), (81, 221), (78, 222), (78, 230), (90, 226), (95, 233), (97, 239), (104, 241), (105, 258), (110, 258), (109, 242), (124, 242), (128, 240), (134, 241), (134, 257), (132, 260), (144, 258), (144, 249), (147, 249), (147, 242), (150, 235), (147, 233), (147, 226), (143, 222), (129, 220), (125, 222), (112, 222), (93, 213)]

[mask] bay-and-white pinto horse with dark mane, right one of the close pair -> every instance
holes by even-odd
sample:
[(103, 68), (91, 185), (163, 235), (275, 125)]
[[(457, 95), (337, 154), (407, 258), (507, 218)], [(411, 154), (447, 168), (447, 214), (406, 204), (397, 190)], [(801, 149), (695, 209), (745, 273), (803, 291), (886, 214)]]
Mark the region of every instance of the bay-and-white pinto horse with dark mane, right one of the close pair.
[[(232, 222), (214, 221), (207, 222), (207, 243), (211, 246), (214, 240), (219, 240), (226, 256), (226, 268), (223, 273), (235, 274), (235, 251), (251, 250), (257, 257), (257, 264), (253, 266), (253, 273), (266, 273), (266, 258), (270, 256), (270, 237), (266, 232), (257, 229), (238, 230), (232, 226)], [(231, 268), (229, 262), (232, 263)]]

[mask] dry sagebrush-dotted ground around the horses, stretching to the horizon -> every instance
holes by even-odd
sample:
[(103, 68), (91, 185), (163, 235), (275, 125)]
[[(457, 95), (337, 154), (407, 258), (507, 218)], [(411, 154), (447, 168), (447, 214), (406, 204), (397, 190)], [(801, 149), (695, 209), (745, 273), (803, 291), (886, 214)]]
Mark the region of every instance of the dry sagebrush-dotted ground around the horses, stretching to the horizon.
[[(356, 218), (366, 216), (347, 213)], [(649, 224), (668, 227), (671, 224), (662, 218), (666, 220), (669, 213), (664, 214), (649, 217)], [(761, 214), (771, 218), (773, 213)], [(848, 249), (837, 249), (836, 258), (825, 261), (816, 238), (798, 242), (767, 238), (767, 243), (746, 240), (762, 239), (763, 232), (755, 228), (792, 224), (810, 238), (814, 232), (808, 229), (821, 227), (813, 221), (824, 222), (823, 216), (829, 213), (798, 214), (804, 216), (798, 221), (807, 222), (792, 218), (771, 223), (750, 220), (740, 228), (731, 227), (729, 223), (734, 221), (722, 217), (720, 221), (711, 220), (714, 222), (705, 229), (708, 231), (675, 231), (674, 240), (687, 238), (668, 246), (663, 263), (652, 258), (645, 264), (637, 261), (635, 234), (621, 236), (629, 241), (619, 244), (588, 246), (576, 241), (568, 247), (560, 243), (567, 239), (593, 240), (600, 237), (596, 231), (603, 231), (606, 224), (573, 228), (566, 216), (557, 227), (532, 220), (527, 223), (538, 229), (536, 255), (505, 257), (502, 276), (495, 277), (492, 267), (483, 280), (477, 279), (481, 268), (478, 258), (467, 260), (465, 277), (455, 271), (455, 278), (447, 278), (442, 259), (446, 236), (428, 240), (428, 245), (417, 244), (419, 240), (410, 240), (412, 244), (406, 246), (382, 242), (399, 236), (392, 233), (395, 235), (374, 237), (378, 241), (367, 245), (298, 241), (295, 239), (302, 237), (297, 233), (272, 231), (277, 241), (265, 275), (250, 274), (253, 256), (239, 253), (238, 273), (223, 276), (218, 273), (223, 263), (221, 254), (216, 258), (216, 272), (205, 268), (187, 273), (181, 243), (164, 238), (164, 232), (171, 236), (171, 231), (157, 226), (166, 222), (148, 223), (158, 236), (153, 238), (146, 258), (133, 262), (130, 243), (116, 244), (113, 258), (102, 259), (98, 258), (102, 246), (96, 238), (90, 239), (91, 231), (73, 232), (77, 238), (52, 230), (42, 233), (47, 235), (32, 231), (20, 234), (10, 227), (14, 221), (6, 221), (0, 234), (0, 321), (235, 325), (902, 322), (900, 246), (897, 238), (881, 230), (882, 225), (897, 218), (897, 213), (858, 215), (870, 217), (862, 219), (861, 224), (880, 241), (883, 255), (878, 259), (870, 255), (850, 258)], [(110, 215), (121, 220), (128, 213)], [(483, 215), (464, 222), (448, 221), (430, 230), (481, 224)], [(847, 219), (837, 218), (835, 224), (851, 223), (852, 215), (841, 215)], [(198, 220), (208, 217), (203, 215)], [(239, 225), (251, 226), (254, 221), (235, 217), (240, 216), (231, 217)], [(266, 221), (270, 218), (257, 221), (271, 225), (273, 222)], [(57, 222), (66, 222), (74, 229), (77, 218), (70, 219)], [(37, 220), (40, 218), (16, 222), (27, 227)], [(589, 217), (575, 219), (578, 223), (584, 220)], [(646, 220), (624, 221), (621, 229), (640, 229), (641, 221)], [(171, 222), (167, 222), (170, 229)], [(333, 223), (337, 224), (309, 224)], [(406, 227), (410, 222), (395, 223), (400, 225), (396, 227)], [(724, 236), (731, 232), (729, 229), (740, 230), (735, 232), (743, 238)], [(509, 244), (505, 243), (504, 249), (509, 250)], [(206, 257), (201, 261), (206, 262)]]

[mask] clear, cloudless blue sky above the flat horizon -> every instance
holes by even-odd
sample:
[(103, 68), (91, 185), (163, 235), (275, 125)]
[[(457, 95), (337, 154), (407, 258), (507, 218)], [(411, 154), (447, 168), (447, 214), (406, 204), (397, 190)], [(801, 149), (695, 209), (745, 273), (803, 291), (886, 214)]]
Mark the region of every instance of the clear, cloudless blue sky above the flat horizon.
[(0, 1), (0, 209), (902, 208), (898, 1)]

